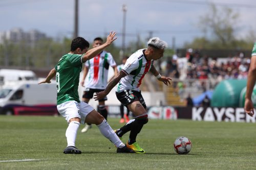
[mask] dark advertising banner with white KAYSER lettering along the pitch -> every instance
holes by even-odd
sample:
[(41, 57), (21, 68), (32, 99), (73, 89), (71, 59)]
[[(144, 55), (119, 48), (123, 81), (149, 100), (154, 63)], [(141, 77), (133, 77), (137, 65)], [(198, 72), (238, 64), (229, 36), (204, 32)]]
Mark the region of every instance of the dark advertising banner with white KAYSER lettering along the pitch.
[[(120, 117), (119, 106), (108, 106), (110, 117)], [(153, 106), (148, 108), (150, 119), (191, 119), (209, 122), (246, 122), (256, 123), (256, 110), (251, 117), (245, 113), (244, 108), (233, 107), (172, 107)], [(132, 117), (132, 114), (130, 115)]]

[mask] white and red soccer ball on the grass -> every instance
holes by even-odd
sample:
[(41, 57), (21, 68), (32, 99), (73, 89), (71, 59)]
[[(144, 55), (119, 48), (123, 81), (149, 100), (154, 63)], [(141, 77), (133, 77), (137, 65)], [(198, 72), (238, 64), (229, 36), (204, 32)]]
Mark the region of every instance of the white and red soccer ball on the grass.
[(178, 137), (174, 142), (174, 150), (177, 154), (187, 154), (191, 151), (192, 143), (184, 136)]

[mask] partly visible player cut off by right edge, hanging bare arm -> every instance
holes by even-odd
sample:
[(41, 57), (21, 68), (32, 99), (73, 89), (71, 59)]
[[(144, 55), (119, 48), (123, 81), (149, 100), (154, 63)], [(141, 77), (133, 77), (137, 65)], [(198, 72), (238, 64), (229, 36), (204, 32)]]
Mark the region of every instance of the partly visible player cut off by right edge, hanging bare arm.
[(251, 53), (251, 63), (250, 63), (250, 68), (248, 72), (248, 80), (247, 80), (247, 88), (246, 88), (245, 104), (244, 104), (245, 112), (250, 116), (253, 116), (254, 114), (251, 94), (252, 94), (255, 82), (256, 82), (256, 42), (254, 43), (252, 53)]

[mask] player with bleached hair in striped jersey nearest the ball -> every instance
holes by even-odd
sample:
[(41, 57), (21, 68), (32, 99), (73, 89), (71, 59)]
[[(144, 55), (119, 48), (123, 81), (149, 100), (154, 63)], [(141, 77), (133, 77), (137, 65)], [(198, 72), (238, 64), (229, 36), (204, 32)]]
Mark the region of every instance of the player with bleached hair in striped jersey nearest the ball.
[(148, 47), (132, 54), (127, 59), (121, 71), (115, 76), (104, 91), (96, 93), (94, 99), (100, 100), (106, 96), (111, 89), (117, 85), (117, 99), (135, 115), (125, 126), (116, 130), (116, 134), (122, 137), (126, 132), (130, 132), (129, 140), (126, 145), (136, 153), (144, 154), (145, 151), (136, 142), (137, 134), (141, 131), (144, 124), (148, 122), (146, 104), (140, 92), (141, 81), (148, 71), (151, 71), (159, 81), (165, 85), (170, 84), (170, 78), (161, 76), (153, 65), (155, 60), (163, 57), (164, 49), (167, 46), (165, 41), (158, 37), (152, 38), (147, 42)]

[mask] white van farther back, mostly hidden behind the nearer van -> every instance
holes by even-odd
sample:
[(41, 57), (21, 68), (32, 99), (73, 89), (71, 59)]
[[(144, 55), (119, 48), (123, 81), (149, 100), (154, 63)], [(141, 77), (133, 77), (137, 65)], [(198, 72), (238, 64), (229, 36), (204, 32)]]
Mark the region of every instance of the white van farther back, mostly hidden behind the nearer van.
[(0, 84), (8, 81), (37, 80), (35, 73), (31, 70), (0, 69)]

